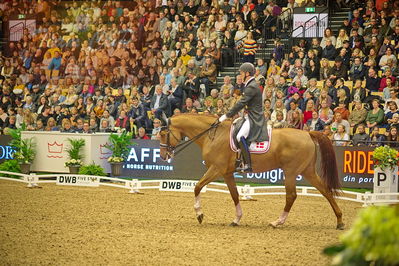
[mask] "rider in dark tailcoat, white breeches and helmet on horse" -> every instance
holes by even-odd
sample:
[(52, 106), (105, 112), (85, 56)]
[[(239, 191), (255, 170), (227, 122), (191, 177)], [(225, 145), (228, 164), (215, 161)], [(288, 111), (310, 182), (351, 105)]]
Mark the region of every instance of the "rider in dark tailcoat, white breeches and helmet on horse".
[(227, 114), (222, 115), (219, 118), (219, 121), (223, 122), (245, 108), (245, 122), (237, 134), (237, 141), (239, 143), (244, 164), (242, 167), (238, 167), (237, 171), (251, 172), (252, 166), (249, 145), (251, 142), (262, 142), (268, 140), (268, 135), (267, 128), (265, 127), (265, 117), (263, 115), (262, 93), (254, 77), (254, 65), (251, 63), (242, 64), (240, 66), (240, 75), (245, 83), (242, 97), (231, 108), (231, 110), (227, 112)]

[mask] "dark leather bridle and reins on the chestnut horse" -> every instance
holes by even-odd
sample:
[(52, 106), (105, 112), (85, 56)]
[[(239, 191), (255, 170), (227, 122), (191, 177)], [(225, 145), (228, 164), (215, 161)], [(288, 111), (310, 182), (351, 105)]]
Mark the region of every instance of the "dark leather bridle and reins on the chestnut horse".
[(186, 140), (182, 143), (177, 144), (176, 146), (173, 146), (170, 144), (170, 136), (177, 141), (180, 142), (181, 139), (178, 139), (175, 134), (170, 130), (169, 126), (171, 125), (170, 119), (168, 119), (167, 125), (161, 127), (161, 132), (164, 131), (166, 132), (166, 143), (160, 143), (159, 146), (161, 149), (166, 149), (166, 156), (167, 158), (173, 158), (173, 156), (177, 155), (181, 151), (183, 151), (185, 148), (187, 148), (191, 143), (195, 142), (197, 139), (201, 138), (203, 135), (211, 131), (212, 129), (216, 129), (219, 125), (219, 120), (216, 120), (208, 129), (205, 129), (198, 135), (194, 136), (190, 140)]

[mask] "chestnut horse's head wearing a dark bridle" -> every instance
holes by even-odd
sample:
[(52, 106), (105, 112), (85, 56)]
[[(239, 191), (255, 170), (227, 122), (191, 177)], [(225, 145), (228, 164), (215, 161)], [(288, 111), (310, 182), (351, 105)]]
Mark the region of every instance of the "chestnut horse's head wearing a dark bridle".
[(162, 160), (167, 161), (173, 158), (176, 146), (181, 139), (180, 131), (173, 128), (170, 119), (168, 119), (166, 126), (163, 126), (159, 132), (160, 156)]

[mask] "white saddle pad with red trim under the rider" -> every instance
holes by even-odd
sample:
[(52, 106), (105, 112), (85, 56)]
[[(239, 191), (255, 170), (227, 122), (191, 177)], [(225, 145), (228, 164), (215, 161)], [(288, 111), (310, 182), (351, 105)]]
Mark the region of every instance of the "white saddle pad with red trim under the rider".
[[(230, 129), (230, 147), (231, 150), (234, 152), (238, 152), (238, 141), (237, 141), (237, 134), (240, 131), (242, 125), (244, 124), (245, 120), (243, 118), (237, 118), (234, 120), (234, 122), (231, 124), (231, 129)], [(270, 149), (270, 143), (272, 141), (272, 128), (271, 126), (268, 126), (267, 124), (264, 125), (267, 129), (267, 134), (269, 136), (269, 139), (266, 141), (262, 142), (252, 142), (248, 143), (249, 145), (249, 152), (250, 153), (266, 153)]]

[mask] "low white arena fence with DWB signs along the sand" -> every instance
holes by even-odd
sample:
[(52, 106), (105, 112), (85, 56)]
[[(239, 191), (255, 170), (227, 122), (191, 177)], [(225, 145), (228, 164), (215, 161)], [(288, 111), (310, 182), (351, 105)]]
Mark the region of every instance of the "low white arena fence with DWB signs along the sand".
[[(3, 177), (4, 175), (14, 175), (19, 178)], [(139, 179), (125, 179), (105, 176), (86, 176), (75, 174), (20, 174), (7, 171), (0, 171), (0, 180), (8, 180), (15, 182), (26, 183), (27, 187), (38, 187), (39, 184), (55, 183), (57, 185), (72, 185), (85, 187), (108, 186), (115, 188), (122, 188), (128, 190), (129, 193), (141, 193), (147, 189), (157, 189), (161, 191), (194, 191), (195, 184), (198, 181), (193, 180), (139, 180)], [(254, 200), (255, 196), (269, 196), (269, 195), (285, 195), (284, 186), (237, 186), (238, 192), (242, 200)], [(227, 193), (227, 185), (224, 183), (211, 182), (208, 186), (202, 189), (202, 192), (213, 191), (220, 193)], [(314, 187), (297, 186), (297, 195), (323, 197)], [(363, 206), (369, 205), (385, 205), (385, 204), (399, 204), (399, 193), (372, 193), (372, 192), (352, 192), (342, 191), (340, 196), (336, 198), (341, 200), (353, 201), (362, 203)]]

